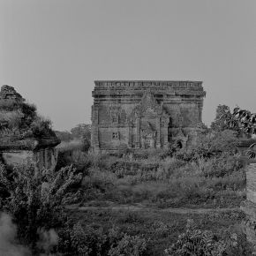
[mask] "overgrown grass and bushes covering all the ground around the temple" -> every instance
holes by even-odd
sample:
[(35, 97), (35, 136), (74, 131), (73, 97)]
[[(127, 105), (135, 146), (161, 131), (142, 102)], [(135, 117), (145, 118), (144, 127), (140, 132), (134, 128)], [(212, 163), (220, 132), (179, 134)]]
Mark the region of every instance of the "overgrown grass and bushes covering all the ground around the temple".
[[(227, 129), (230, 109), (217, 113), (188, 150), (94, 154), (89, 125), (57, 132), (63, 143), (56, 172), (1, 166), (0, 209), (33, 255), (251, 255), (238, 228), (246, 164), (237, 151), (238, 126)], [(50, 125), (34, 118), (31, 130), (40, 135)], [(42, 245), (50, 236), (54, 243)]]

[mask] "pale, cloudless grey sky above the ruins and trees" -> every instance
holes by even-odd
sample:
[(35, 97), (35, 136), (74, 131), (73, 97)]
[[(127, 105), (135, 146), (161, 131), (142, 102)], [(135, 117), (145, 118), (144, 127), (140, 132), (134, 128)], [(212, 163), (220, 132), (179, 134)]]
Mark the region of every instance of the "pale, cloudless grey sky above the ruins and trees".
[(90, 123), (96, 79), (202, 80), (256, 112), (255, 0), (0, 0), (0, 85), (54, 128)]

